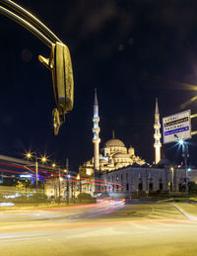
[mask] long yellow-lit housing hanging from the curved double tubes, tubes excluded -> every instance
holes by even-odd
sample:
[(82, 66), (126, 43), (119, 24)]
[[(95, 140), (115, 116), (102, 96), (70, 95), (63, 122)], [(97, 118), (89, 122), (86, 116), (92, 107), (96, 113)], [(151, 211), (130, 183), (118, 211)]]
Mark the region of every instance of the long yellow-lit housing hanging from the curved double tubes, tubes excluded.
[(52, 71), (56, 108), (53, 110), (54, 133), (58, 134), (65, 121), (65, 115), (72, 111), (74, 104), (74, 80), (70, 51), (63, 43), (52, 43), (49, 58), (38, 59)]

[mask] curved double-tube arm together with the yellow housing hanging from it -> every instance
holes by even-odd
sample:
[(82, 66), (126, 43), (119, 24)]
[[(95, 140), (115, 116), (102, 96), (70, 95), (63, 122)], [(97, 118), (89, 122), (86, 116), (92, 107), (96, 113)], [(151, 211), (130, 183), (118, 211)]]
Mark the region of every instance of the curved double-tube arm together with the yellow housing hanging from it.
[(40, 41), (51, 48), (49, 58), (38, 56), (38, 59), (52, 71), (53, 89), (56, 108), (53, 110), (53, 127), (55, 135), (64, 123), (65, 115), (72, 111), (74, 104), (73, 69), (69, 48), (62, 43), (44, 24), (32, 13), (10, 0), (1, 0), (11, 12), (0, 6), (0, 13), (23, 26)]

